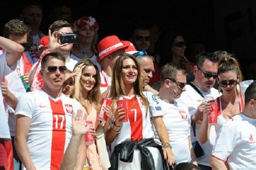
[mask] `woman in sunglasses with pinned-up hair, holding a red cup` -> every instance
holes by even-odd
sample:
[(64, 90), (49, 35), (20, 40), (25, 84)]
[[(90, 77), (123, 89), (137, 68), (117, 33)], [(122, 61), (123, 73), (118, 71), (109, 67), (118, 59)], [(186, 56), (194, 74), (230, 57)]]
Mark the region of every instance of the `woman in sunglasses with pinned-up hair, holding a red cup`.
[[(242, 78), (242, 72), (235, 56), (228, 53), (223, 54), (218, 62), (218, 84), (222, 95), (214, 101), (218, 104), (218, 123), (215, 125), (217, 133), (228, 119), (239, 114), (244, 109), (244, 99), (239, 85), (242, 82)], [(207, 114), (210, 111), (211, 107), (206, 104), (203, 122), (198, 135), (198, 140), (201, 143), (205, 143), (209, 139), (211, 125), (208, 123)]]

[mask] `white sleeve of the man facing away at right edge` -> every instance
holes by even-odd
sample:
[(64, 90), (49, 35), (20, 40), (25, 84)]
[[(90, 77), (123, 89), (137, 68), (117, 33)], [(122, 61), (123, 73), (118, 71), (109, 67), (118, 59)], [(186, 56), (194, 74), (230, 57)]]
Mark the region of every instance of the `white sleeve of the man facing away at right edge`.
[(217, 135), (217, 139), (212, 150), (212, 156), (225, 161), (235, 148), (237, 135), (236, 127), (232, 123), (232, 120), (229, 120), (222, 126), (219, 134)]

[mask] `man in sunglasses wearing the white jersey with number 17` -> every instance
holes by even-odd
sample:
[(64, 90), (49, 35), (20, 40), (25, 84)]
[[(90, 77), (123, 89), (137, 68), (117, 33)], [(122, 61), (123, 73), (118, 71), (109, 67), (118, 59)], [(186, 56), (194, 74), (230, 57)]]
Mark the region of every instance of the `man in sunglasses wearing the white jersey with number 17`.
[(42, 89), (24, 94), (15, 110), (15, 147), (26, 169), (59, 169), (71, 137), (71, 117), (82, 106), (61, 93), (65, 57), (49, 53), (41, 64)]

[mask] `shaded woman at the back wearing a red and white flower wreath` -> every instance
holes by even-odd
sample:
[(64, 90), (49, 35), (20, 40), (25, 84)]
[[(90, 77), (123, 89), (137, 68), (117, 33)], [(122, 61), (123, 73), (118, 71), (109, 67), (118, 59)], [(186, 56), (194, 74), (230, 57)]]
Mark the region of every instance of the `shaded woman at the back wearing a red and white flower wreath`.
[(93, 17), (81, 17), (74, 23), (74, 33), (77, 35), (77, 44), (71, 51), (73, 55), (70, 58), (74, 60), (91, 59), (99, 67), (98, 50), (96, 43), (98, 41), (99, 24)]

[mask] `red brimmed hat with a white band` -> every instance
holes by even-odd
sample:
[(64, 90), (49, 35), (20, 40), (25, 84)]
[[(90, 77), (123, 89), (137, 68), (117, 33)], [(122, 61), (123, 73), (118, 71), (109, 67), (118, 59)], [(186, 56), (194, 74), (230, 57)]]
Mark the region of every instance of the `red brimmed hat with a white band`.
[(120, 39), (115, 36), (108, 36), (103, 39), (98, 44), (98, 51), (99, 51), (99, 57), (100, 61), (105, 58), (105, 56), (109, 55), (110, 53), (113, 53), (119, 49), (127, 48), (127, 45), (124, 45)]

